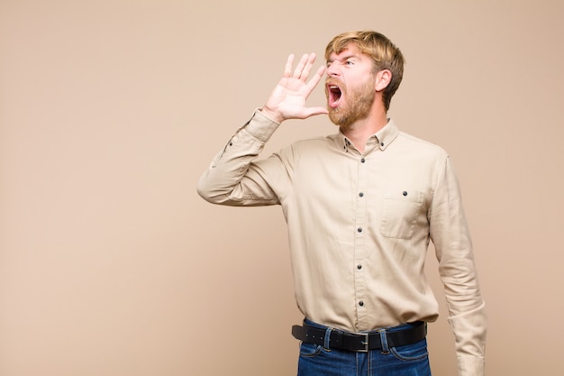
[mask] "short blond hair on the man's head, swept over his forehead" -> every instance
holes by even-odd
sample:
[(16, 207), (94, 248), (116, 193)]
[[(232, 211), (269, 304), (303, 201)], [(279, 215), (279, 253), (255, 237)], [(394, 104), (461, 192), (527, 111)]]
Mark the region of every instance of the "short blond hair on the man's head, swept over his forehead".
[(379, 32), (370, 30), (343, 32), (327, 44), (325, 60), (329, 60), (333, 52), (340, 54), (350, 43), (354, 43), (362, 53), (374, 61), (375, 72), (382, 69), (388, 69), (392, 72), (392, 79), (382, 95), (384, 106), (388, 110), (392, 96), (396, 93), (404, 77), (405, 59), (402, 51), (384, 34)]

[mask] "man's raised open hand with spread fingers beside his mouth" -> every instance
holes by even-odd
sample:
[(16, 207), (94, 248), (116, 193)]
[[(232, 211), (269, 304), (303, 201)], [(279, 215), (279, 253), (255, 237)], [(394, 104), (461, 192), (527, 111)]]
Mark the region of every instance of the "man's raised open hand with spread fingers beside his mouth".
[(305, 101), (314, 91), (321, 78), (325, 67), (320, 67), (314, 77), (307, 81), (310, 71), (314, 65), (315, 54), (305, 54), (297, 63), (292, 72), (294, 55), (288, 56), (284, 76), (268, 97), (268, 101), (262, 112), (273, 120), (281, 123), (287, 119), (305, 119), (313, 115), (327, 114), (325, 107), (307, 107)]

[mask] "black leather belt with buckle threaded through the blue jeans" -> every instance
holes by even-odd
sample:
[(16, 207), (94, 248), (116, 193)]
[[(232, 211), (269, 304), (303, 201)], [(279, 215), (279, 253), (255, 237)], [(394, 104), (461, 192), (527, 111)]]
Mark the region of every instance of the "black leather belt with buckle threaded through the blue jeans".
[[(292, 335), (306, 344), (325, 344), (326, 329), (314, 326), (292, 326)], [(403, 346), (421, 341), (427, 335), (427, 326), (418, 321), (411, 327), (394, 332), (386, 331), (387, 347)], [(349, 350), (353, 352), (368, 352), (368, 350), (382, 349), (380, 332), (350, 333), (339, 329), (332, 329), (329, 339), (332, 349)]]

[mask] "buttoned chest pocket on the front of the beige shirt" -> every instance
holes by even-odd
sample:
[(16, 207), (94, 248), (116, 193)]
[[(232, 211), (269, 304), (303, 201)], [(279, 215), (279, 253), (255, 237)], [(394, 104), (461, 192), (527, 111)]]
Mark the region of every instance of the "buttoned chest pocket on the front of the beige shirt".
[(407, 188), (388, 189), (382, 200), (380, 232), (389, 238), (411, 238), (422, 207), (423, 192)]

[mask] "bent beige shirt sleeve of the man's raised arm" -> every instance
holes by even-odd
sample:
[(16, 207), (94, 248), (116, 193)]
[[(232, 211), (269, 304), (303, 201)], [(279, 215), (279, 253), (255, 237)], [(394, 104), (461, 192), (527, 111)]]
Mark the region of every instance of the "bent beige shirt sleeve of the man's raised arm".
[(205, 170), (197, 192), (206, 201), (228, 206), (278, 204), (264, 171), (253, 163), (280, 124), (256, 110)]

